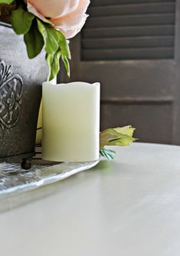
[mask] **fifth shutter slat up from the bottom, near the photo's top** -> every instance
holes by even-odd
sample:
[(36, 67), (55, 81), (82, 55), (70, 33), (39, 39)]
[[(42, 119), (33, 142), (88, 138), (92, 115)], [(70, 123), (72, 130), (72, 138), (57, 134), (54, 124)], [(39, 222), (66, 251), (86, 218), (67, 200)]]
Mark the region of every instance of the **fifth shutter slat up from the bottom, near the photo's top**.
[(173, 13), (175, 12), (175, 3), (146, 3), (138, 5), (110, 5), (97, 6), (88, 9), (88, 13), (93, 17), (115, 16), (115, 15), (138, 15), (153, 13)]

